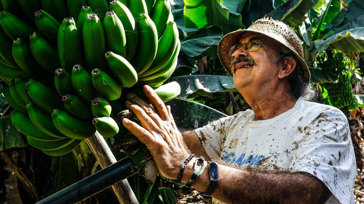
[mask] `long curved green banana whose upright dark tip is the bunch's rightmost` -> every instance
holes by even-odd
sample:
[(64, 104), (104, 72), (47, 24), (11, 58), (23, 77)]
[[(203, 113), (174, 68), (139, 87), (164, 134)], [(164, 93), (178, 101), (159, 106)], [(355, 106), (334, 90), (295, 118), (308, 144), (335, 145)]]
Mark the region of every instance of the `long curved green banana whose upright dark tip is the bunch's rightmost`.
[[(141, 74), (153, 63), (158, 48), (157, 28), (146, 13), (142, 13), (138, 23), (138, 49), (131, 61), (135, 71)], [(148, 49), (144, 46), (148, 45)]]

